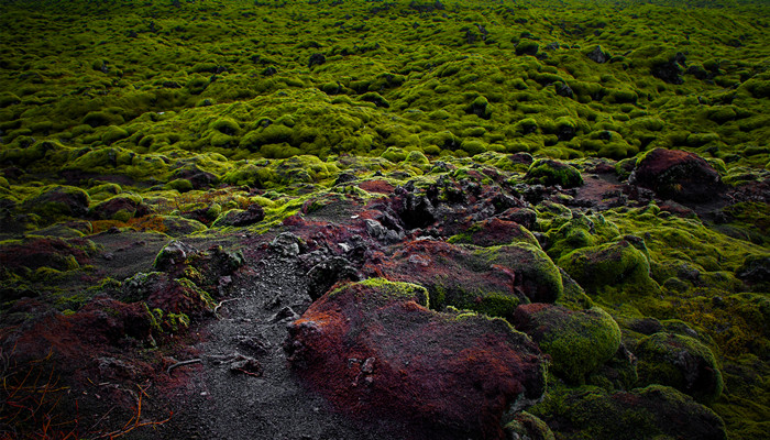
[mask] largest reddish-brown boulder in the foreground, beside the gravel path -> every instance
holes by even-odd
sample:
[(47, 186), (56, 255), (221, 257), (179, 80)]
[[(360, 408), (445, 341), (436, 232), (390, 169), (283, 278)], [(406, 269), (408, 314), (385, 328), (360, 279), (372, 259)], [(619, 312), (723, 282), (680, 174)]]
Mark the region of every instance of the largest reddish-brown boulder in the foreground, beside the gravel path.
[(504, 320), (427, 306), (413, 284), (349, 284), (289, 324), (288, 359), (345, 413), (444, 439), (504, 438), (503, 415), (544, 391), (540, 351)]

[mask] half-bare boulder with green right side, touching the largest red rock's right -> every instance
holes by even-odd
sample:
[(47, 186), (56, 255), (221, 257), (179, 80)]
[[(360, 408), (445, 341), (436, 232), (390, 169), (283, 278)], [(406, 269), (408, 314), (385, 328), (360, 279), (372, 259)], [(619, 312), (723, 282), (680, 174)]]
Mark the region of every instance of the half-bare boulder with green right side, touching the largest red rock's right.
[(574, 311), (530, 304), (516, 309), (513, 322), (551, 356), (554, 374), (571, 383), (584, 382), (586, 374), (612, 359), (620, 346), (620, 329), (598, 307)]

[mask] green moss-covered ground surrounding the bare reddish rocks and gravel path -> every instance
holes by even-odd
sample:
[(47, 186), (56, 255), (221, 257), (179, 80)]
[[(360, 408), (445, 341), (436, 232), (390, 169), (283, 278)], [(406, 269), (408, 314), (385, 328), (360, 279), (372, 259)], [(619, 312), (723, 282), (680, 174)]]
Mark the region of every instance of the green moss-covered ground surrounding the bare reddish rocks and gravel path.
[[(663, 330), (693, 338), (721, 372), (721, 394), (702, 400), (728, 438), (770, 431), (767, 2), (0, 9), (3, 328), (33, 318), (18, 307), (31, 297), (69, 316), (114, 292), (146, 268), (106, 272), (94, 258), (140, 257), (138, 242), (151, 264), (172, 238), (256, 235), (408, 182), (497, 185), (527, 200), (537, 215), (530, 231), (521, 227), (529, 245), (618, 322), (625, 346)], [(725, 196), (683, 206), (620, 194), (653, 148), (705, 158)], [(590, 195), (597, 182), (616, 193)], [(448, 241), (473, 243), (476, 232)], [(663, 327), (639, 331), (634, 322), (646, 319)], [(672, 321), (681, 324), (664, 326)], [(568, 407), (553, 399), (573, 384), (550, 381), (559, 393), (541, 408)], [(610, 382), (598, 383), (619, 391)]]

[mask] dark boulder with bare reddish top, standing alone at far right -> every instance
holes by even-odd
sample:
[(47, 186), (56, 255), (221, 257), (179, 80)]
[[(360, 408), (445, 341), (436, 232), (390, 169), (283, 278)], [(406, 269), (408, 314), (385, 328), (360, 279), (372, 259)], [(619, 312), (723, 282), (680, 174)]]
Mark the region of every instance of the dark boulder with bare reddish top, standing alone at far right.
[(657, 148), (639, 161), (629, 177), (659, 197), (675, 201), (706, 201), (722, 190), (719, 173), (703, 157), (680, 150)]

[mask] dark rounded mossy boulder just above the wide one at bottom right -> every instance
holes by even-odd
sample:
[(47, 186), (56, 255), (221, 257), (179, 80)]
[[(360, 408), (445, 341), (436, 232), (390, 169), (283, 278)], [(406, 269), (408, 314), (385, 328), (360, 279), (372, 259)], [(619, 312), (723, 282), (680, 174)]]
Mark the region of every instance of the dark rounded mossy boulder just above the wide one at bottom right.
[(712, 404), (724, 388), (714, 353), (698, 340), (667, 332), (651, 334), (634, 351), (639, 363), (639, 384), (661, 384)]

